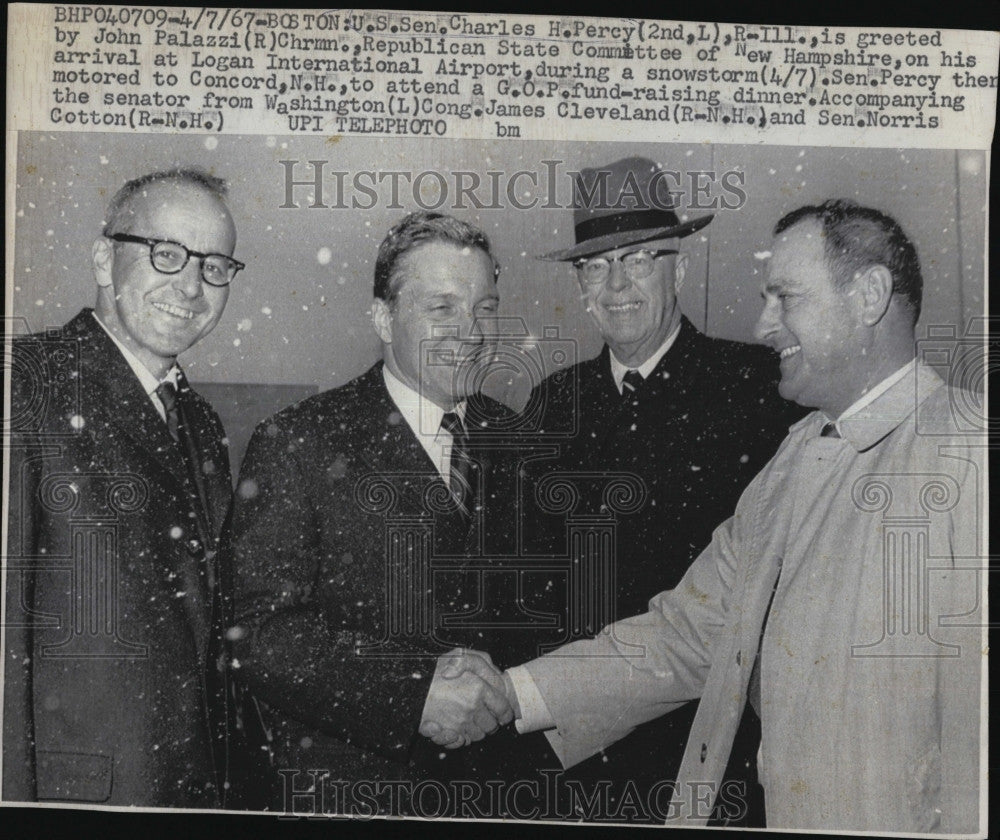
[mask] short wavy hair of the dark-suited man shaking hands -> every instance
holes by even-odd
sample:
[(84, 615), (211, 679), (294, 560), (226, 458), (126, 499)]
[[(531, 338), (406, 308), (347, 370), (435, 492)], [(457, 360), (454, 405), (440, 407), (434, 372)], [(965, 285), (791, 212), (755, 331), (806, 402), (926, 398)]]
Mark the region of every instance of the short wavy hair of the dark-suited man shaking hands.
[(393, 225), (382, 240), (375, 259), (375, 297), (392, 303), (399, 294), (396, 266), (403, 256), (428, 242), (450, 242), (459, 248), (478, 248), (493, 261), (494, 276), (499, 275), (490, 240), (479, 228), (446, 216), (418, 210)]

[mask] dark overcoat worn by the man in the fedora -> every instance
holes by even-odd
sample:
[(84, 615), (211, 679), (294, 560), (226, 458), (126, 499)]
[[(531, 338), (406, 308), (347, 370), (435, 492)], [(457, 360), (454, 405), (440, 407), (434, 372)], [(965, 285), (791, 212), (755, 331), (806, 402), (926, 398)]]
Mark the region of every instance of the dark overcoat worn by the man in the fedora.
[[(677, 584), (803, 414), (780, 398), (778, 378), (772, 351), (709, 338), (684, 318), (634, 399), (618, 392), (607, 347), (534, 389), (518, 493), (524, 536), (504, 552), (572, 555), (580, 558), (576, 567), (594, 563), (598, 553), (611, 559), (576, 579), (551, 567), (532, 572), (532, 563), (544, 564), (526, 562), (521, 605), (508, 609), (508, 619), (516, 612), (522, 626), (491, 638), (498, 664), (520, 664), (595, 635), (616, 618), (645, 612), (653, 595)], [(564, 492), (567, 486), (572, 493)], [(573, 493), (575, 501), (567, 502)], [(602, 543), (598, 534), (608, 523)], [(509, 608), (510, 581), (506, 595), (491, 597)], [(645, 796), (656, 781), (673, 778), (694, 711), (690, 704), (640, 727), (570, 775), (616, 781), (611, 796), (621, 796), (621, 783), (632, 779)], [(518, 751), (536, 765), (558, 766), (542, 736), (519, 740), (500, 775), (523, 774)]]

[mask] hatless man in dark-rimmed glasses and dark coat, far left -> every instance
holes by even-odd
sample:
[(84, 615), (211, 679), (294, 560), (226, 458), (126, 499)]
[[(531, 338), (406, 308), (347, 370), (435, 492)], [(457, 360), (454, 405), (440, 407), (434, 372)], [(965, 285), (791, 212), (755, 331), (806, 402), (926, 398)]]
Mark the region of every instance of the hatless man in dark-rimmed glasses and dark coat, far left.
[(224, 196), (197, 170), (126, 183), (93, 245), (94, 309), (15, 342), (6, 800), (231, 804), (229, 455), (177, 363), (243, 268)]

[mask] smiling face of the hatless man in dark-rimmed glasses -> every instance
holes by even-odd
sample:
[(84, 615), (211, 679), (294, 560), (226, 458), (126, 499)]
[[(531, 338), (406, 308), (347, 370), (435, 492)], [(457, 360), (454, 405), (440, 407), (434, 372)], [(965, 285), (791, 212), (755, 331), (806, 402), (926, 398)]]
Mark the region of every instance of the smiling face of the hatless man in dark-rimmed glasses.
[[(127, 223), (112, 233), (169, 239), (194, 251), (232, 256), (233, 220), (222, 201), (202, 187), (154, 182), (127, 210)], [(93, 257), (101, 322), (156, 377), (212, 331), (229, 299), (228, 286), (202, 282), (197, 257), (177, 274), (161, 274), (150, 263), (148, 246), (104, 237), (94, 243)]]

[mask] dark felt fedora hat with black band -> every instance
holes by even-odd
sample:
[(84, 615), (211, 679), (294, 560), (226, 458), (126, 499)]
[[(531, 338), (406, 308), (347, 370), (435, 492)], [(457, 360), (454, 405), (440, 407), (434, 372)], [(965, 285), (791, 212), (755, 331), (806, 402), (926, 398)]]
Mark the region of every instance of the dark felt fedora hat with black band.
[(538, 259), (571, 261), (625, 245), (688, 236), (712, 216), (684, 222), (673, 209), (666, 172), (648, 158), (630, 157), (583, 169), (573, 179), (576, 245)]

